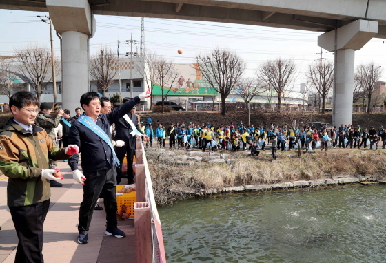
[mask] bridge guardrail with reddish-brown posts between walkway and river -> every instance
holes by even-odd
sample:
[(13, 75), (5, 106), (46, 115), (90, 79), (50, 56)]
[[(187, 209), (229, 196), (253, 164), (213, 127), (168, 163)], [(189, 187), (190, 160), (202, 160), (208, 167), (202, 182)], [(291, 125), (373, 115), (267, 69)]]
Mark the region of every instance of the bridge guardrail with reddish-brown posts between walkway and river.
[(134, 228), (136, 263), (166, 263), (161, 220), (154, 199), (152, 178), (141, 138), (136, 139), (136, 202)]

